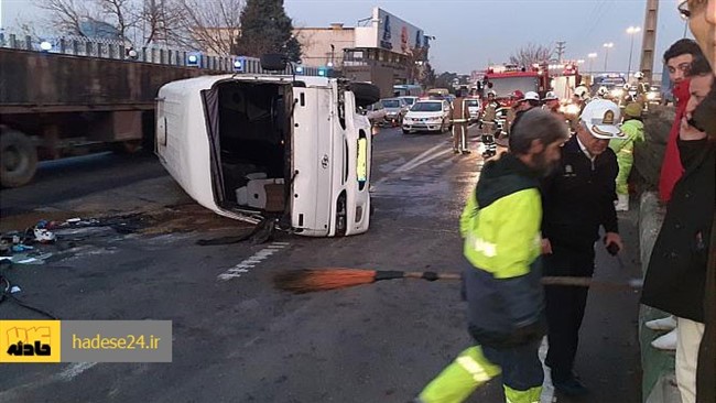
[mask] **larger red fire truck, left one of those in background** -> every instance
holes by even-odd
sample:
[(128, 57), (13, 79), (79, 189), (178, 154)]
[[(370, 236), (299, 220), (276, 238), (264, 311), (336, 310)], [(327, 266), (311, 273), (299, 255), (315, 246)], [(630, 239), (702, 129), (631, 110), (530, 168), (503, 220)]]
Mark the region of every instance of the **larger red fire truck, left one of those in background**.
[(517, 65), (491, 66), (485, 70), (482, 78), (485, 94), (493, 90), (502, 106), (510, 106), (510, 94), (520, 90), (535, 91), (540, 97), (550, 90), (550, 75), (540, 65), (519, 67)]

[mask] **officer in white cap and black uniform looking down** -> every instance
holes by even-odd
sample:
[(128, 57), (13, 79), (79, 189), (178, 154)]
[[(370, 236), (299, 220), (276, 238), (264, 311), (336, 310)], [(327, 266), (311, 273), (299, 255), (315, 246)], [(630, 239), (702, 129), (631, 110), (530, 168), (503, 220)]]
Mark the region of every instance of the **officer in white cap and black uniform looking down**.
[[(542, 181), (545, 275), (592, 276), (599, 227), (608, 250), (622, 249), (614, 205), (619, 166), (608, 148), (610, 139), (625, 137), (619, 122), (616, 104), (604, 99), (587, 104), (576, 135), (562, 148), (560, 167)], [(555, 389), (568, 395), (587, 393), (573, 372), (587, 291), (545, 287), (550, 346), (545, 363)]]

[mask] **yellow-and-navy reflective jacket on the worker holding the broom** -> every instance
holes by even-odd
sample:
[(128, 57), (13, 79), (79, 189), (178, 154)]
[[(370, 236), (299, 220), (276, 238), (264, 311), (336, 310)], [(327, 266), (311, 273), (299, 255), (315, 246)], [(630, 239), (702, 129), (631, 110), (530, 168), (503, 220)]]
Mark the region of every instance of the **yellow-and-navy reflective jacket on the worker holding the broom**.
[(543, 319), (538, 186), (532, 170), (503, 154), (485, 165), (460, 217), (469, 330), (482, 345), (500, 345)]

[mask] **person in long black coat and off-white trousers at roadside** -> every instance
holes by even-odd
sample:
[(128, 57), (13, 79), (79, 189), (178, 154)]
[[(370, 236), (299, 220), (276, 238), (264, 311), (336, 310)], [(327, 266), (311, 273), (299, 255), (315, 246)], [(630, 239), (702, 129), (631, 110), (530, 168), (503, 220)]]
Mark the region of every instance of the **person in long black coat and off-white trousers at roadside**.
[(643, 304), (677, 318), (675, 370), (684, 403), (696, 401), (696, 362), (704, 334), (706, 262), (716, 200), (714, 141), (693, 120), (694, 111), (712, 91), (714, 74), (703, 56), (693, 61), (691, 74), (691, 97), (677, 139), (685, 172), (672, 192), (641, 294)]

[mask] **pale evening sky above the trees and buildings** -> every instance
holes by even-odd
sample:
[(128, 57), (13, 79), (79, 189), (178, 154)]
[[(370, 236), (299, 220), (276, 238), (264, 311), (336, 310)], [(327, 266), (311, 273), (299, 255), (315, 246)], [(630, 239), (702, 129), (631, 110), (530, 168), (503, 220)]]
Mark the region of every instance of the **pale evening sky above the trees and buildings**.
[[(488, 64), (508, 62), (510, 54), (529, 43), (554, 46), (566, 41), (565, 58), (585, 59), (597, 53), (593, 69), (604, 69), (606, 42), (614, 43), (608, 54), (608, 70), (627, 72), (631, 35), (629, 26), (644, 23), (647, 0), (285, 0), (286, 14), (294, 26), (328, 26), (341, 22), (356, 26), (380, 7), (436, 39), (431, 42), (430, 61), (437, 72), (468, 74)], [(677, 0), (659, 1), (657, 57), (683, 37), (685, 23), (676, 13)], [(0, 21), (37, 15), (32, 0), (0, 0)], [(686, 30), (687, 36), (691, 33)], [(632, 72), (641, 58), (643, 31), (633, 37)]]

